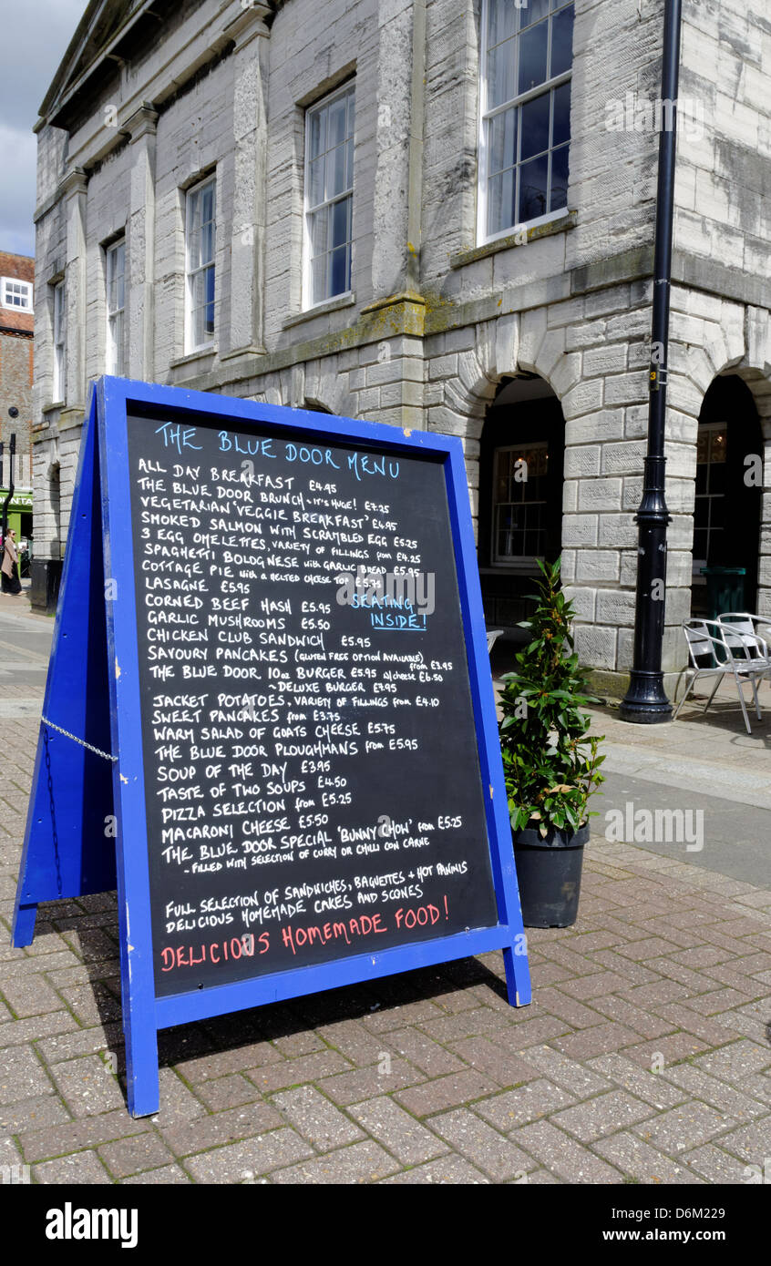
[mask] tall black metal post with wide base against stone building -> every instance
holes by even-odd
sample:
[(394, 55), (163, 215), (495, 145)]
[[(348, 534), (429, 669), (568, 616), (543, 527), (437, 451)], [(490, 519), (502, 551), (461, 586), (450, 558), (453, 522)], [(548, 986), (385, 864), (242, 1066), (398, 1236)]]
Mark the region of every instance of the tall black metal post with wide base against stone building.
[[(667, 573), (667, 524), (663, 454), (668, 376), (670, 294), (672, 286), (672, 220), (675, 211), (675, 149), (680, 71), (681, 0), (665, 0), (661, 68), (661, 139), (656, 195), (653, 324), (648, 398), (648, 454), (643, 495), (637, 511), (638, 562), (634, 610), (634, 661), (629, 689), (620, 705), (624, 720), (651, 725), (670, 720), (672, 705), (663, 693), (661, 655)], [(671, 103), (667, 104), (667, 103)]]

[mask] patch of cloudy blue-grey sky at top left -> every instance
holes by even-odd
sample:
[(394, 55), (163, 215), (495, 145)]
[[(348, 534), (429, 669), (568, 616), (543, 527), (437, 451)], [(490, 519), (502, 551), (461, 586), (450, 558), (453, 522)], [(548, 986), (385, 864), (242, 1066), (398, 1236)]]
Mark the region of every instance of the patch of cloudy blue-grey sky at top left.
[(1, 5), (6, 56), (0, 78), (0, 171), (5, 176), (0, 181), (0, 251), (34, 254), (38, 138), (32, 128), (86, 8), (86, 0), (5, 0)]

